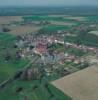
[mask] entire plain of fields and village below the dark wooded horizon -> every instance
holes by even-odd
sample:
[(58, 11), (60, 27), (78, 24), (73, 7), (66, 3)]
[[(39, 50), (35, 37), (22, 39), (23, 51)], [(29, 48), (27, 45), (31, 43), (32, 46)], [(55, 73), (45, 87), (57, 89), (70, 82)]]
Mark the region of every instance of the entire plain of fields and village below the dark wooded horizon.
[(0, 100), (98, 98), (98, 69), (88, 60), (98, 52), (98, 16), (24, 15), (0, 21), (0, 83), (11, 78), (1, 85)]

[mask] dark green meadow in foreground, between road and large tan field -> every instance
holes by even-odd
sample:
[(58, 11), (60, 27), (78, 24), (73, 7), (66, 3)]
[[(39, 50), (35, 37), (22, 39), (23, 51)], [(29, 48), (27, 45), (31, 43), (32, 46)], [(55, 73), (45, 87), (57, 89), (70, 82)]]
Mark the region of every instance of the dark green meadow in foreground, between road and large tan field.
[[(33, 89), (34, 86), (37, 86), (37, 88)], [(16, 93), (16, 89), (19, 87), (22, 87), (23, 91)], [(63, 94), (51, 84), (48, 84), (48, 89), (37, 80), (17, 80), (0, 91), (0, 100), (24, 100), (24, 96), (27, 96), (29, 100), (71, 100), (69, 96)], [(50, 92), (53, 94), (53, 97), (51, 97)]]

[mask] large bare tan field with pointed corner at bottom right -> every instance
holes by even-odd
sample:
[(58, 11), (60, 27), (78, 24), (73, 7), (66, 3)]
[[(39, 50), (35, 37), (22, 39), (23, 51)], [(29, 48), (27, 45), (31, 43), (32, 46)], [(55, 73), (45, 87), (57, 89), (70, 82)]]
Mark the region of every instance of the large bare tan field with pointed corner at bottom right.
[(73, 100), (98, 100), (98, 67), (88, 67), (52, 84)]

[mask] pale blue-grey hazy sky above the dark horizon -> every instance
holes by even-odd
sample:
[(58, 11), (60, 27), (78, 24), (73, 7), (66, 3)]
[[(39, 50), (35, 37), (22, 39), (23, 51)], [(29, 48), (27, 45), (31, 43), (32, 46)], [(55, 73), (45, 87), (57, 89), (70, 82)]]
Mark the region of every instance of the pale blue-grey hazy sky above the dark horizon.
[(0, 6), (98, 5), (98, 0), (0, 0)]

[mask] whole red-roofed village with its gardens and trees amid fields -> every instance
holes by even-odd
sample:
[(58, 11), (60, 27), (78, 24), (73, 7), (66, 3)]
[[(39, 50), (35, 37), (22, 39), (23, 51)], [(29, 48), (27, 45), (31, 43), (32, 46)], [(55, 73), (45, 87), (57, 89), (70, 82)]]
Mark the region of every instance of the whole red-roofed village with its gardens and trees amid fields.
[(34, 62), (35, 67), (34, 65), (32, 67), (31, 64), (30, 68), (22, 75), (22, 79), (24, 77), (26, 79), (38, 79), (43, 74), (50, 77), (50, 79), (55, 74), (59, 77), (69, 75), (89, 67), (90, 62), (84, 56), (81, 57), (73, 52), (67, 52), (68, 49), (77, 49), (85, 54), (88, 52), (96, 54), (98, 51), (96, 47), (66, 42), (65, 37), (70, 34), (66, 31), (59, 30), (54, 35), (36, 34), (30, 33), (18, 36), (14, 44), (14, 47), (19, 49), (16, 53), (19, 59), (38, 57)]

